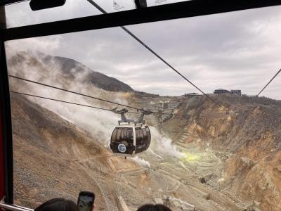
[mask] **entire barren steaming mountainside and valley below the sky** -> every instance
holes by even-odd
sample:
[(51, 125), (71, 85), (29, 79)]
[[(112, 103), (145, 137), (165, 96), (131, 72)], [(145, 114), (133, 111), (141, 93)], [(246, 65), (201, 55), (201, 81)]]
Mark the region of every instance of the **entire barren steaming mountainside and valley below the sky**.
[[(226, 94), (212, 95), (214, 104), (204, 96), (145, 94), (77, 61), (26, 52), (13, 55), (8, 70), (155, 112), (167, 104), (162, 125), (157, 115), (146, 117), (150, 149), (124, 160), (107, 148), (118, 115), (12, 94), (18, 204), (76, 200), (89, 190), (98, 196), (98, 210), (136, 210), (167, 198), (175, 211), (244, 210), (253, 201), (260, 210), (281, 210), (280, 101)], [(14, 91), (115, 108), (15, 79), (10, 84)]]

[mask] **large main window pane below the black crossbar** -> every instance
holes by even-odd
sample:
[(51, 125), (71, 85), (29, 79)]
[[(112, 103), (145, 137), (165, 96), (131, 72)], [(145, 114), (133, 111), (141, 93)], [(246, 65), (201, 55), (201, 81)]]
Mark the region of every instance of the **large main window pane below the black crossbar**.
[[(280, 70), (280, 6), (126, 27), (218, 103), (119, 27), (6, 41), (8, 75), (105, 100), (9, 77), (15, 204), (77, 201), (91, 190), (97, 210), (166, 202), (171, 210), (241, 210), (253, 200), (278, 210), (281, 75), (256, 94)], [(132, 130), (110, 110), (157, 113), (167, 101), (160, 132), (153, 114), (144, 117), (150, 130), (136, 128), (135, 158), (112, 155), (115, 134), (115, 152), (134, 148)], [(128, 110), (128, 119), (139, 115)]]

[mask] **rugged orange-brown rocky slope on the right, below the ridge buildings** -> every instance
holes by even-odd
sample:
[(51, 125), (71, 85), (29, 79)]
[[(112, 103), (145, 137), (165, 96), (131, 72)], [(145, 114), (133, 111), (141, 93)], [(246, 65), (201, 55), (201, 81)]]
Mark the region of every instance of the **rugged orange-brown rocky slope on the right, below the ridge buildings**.
[[(256, 200), (261, 210), (281, 209), (280, 101), (248, 96), (214, 96), (218, 106), (203, 97), (185, 99), (164, 129), (174, 139), (175, 127), (184, 136), (181, 145), (213, 148), (230, 153), (215, 178), (221, 190), (244, 200)], [(221, 115), (220, 115), (221, 114)], [(226, 115), (224, 115), (226, 114)]]

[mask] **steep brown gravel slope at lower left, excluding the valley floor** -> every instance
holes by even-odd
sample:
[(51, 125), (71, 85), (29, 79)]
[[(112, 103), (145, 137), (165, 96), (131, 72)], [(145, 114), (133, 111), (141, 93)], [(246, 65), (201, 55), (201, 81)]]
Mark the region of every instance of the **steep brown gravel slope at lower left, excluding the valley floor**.
[(102, 143), (27, 98), (11, 97), (15, 203), (36, 207), (50, 198), (96, 193), (98, 210), (117, 210), (112, 177), (136, 164), (114, 158)]

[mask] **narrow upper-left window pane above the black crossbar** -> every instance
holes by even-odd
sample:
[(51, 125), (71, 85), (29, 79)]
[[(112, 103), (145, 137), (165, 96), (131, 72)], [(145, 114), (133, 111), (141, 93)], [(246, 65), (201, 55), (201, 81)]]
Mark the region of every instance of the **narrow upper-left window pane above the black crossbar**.
[[(95, 0), (93, 2), (102, 7), (107, 13), (126, 11), (135, 8), (133, 0)], [(102, 14), (95, 6), (86, 0), (67, 0), (63, 6), (40, 11), (32, 11), (30, 8), (30, 1), (10, 4), (5, 6), (5, 8), (7, 27), (20, 27), (23, 25), (48, 23), (58, 20)]]

